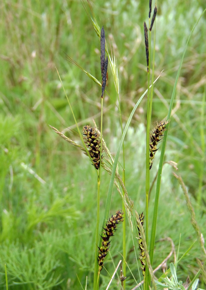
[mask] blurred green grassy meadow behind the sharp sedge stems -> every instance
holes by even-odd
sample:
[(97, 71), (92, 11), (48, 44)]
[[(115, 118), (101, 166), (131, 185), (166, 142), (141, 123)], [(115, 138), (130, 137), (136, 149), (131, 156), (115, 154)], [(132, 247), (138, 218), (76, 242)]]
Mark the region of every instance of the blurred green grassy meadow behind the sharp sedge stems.
[[(101, 83), (100, 40), (87, 14), (87, 1), (84, 5), (77, 0), (3, 0), (0, 4), (0, 289), (86, 289), (86, 279), (87, 289), (93, 289), (97, 174), (88, 156), (49, 127), (54, 126), (81, 144), (80, 138), (71, 131), (76, 130), (76, 125), (58, 70), (80, 130), (88, 124), (93, 126), (93, 119), (100, 130), (101, 88), (66, 60), (67, 56), (71, 57)], [(124, 129), (135, 104), (147, 89), (143, 22), (148, 25), (149, 1), (97, 0), (91, 5), (100, 28), (104, 26), (109, 53), (115, 48)], [(153, 88), (151, 130), (156, 122), (167, 117), (187, 39), (206, 5), (203, 0), (160, 0), (157, 7), (151, 33), (153, 54), (156, 31), (154, 78), (164, 71)], [(88, 9), (87, 13), (84, 8)], [(187, 186), (204, 237), (205, 31), (206, 13), (194, 29), (183, 59), (165, 151), (165, 161), (177, 163), (176, 174)], [(122, 130), (110, 65), (108, 77), (103, 103), (103, 137), (115, 158)], [(125, 186), (134, 202), (132, 221), (135, 210), (145, 214), (146, 126), (147, 95), (137, 107), (124, 139)], [(160, 153), (161, 149), (153, 161), (150, 184), (158, 171)], [(121, 176), (122, 166), (121, 150), (118, 163)], [(178, 281), (185, 282), (187, 277), (192, 280), (201, 268), (198, 287), (206, 289), (206, 268), (205, 265), (200, 267), (197, 260), (205, 263), (205, 254), (173, 171), (170, 164), (163, 165), (152, 267), (158, 267), (170, 253), (171, 240), (178, 259), (196, 241), (178, 263), (177, 277)], [(106, 171), (101, 171), (99, 233), (110, 177)], [(156, 183), (149, 198), (149, 237), (155, 188)], [(122, 198), (114, 186), (110, 217), (120, 208)], [(138, 233), (135, 222), (131, 233), (126, 214), (124, 222), (128, 264), (124, 287), (133, 289), (142, 280), (140, 261), (138, 265), (136, 262), (139, 260), (135, 238)], [(106, 289), (122, 259), (122, 236), (122, 225), (119, 225), (100, 274), (99, 289)], [(149, 250), (149, 245), (147, 248)], [(168, 268), (175, 259), (173, 254), (167, 261)], [(162, 273), (160, 268), (155, 273), (157, 279)], [(122, 289), (118, 276), (120, 269), (109, 289)]]

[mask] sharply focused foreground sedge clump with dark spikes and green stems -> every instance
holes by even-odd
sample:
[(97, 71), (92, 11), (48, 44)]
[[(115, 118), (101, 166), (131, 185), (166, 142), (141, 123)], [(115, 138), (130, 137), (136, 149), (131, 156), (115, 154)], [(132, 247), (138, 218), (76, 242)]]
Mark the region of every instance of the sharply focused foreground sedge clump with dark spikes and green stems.
[[(96, 84), (101, 86), (101, 124), (100, 124), (100, 131), (98, 128), (92, 127), (91, 125), (85, 125), (83, 127), (83, 132), (80, 131), (75, 116), (73, 114), (73, 117), (75, 119), (75, 123), (77, 125), (77, 129), (79, 132), (79, 136), (82, 140), (83, 147), (80, 145), (75, 144), (71, 139), (68, 139), (64, 134), (60, 133), (57, 129), (52, 127), (57, 134), (59, 134), (61, 137), (66, 139), (69, 143), (75, 145), (76, 147), (79, 146), (79, 148), (84, 151), (90, 158), (93, 167), (95, 168), (97, 172), (97, 219), (96, 219), (96, 233), (95, 233), (95, 262), (94, 262), (94, 280), (93, 280), (93, 290), (99, 289), (99, 283), (100, 283), (100, 275), (101, 270), (103, 269), (104, 265), (104, 259), (106, 258), (107, 254), (109, 253), (109, 247), (111, 245), (110, 237), (113, 236), (114, 231), (116, 230), (116, 225), (119, 222), (122, 222), (122, 214), (125, 214), (125, 217), (127, 217), (127, 220), (129, 222), (130, 232), (131, 235), (133, 233), (133, 223), (132, 218), (133, 216), (133, 201), (129, 198), (129, 195), (127, 193), (127, 189), (125, 186), (125, 158), (124, 158), (124, 137), (127, 133), (127, 129), (129, 128), (131, 119), (133, 117), (133, 114), (135, 113), (136, 108), (140, 104), (142, 98), (144, 95), (147, 94), (147, 135), (146, 135), (146, 181), (145, 181), (145, 193), (146, 193), (146, 206), (145, 206), (145, 235), (143, 230), (143, 220), (144, 220), (144, 214), (138, 215), (136, 213), (136, 222), (137, 222), (137, 229), (136, 232), (138, 234), (138, 244), (140, 248), (140, 262), (142, 264), (142, 274), (144, 278), (144, 289), (149, 289), (150, 287), (150, 281), (152, 280), (153, 289), (158, 289), (161, 284), (159, 281), (155, 282), (153, 277), (153, 251), (154, 251), (154, 241), (155, 241), (155, 233), (156, 233), (156, 220), (157, 220), (157, 212), (158, 212), (158, 198), (159, 198), (159, 192), (160, 192), (160, 181), (161, 181), (161, 173), (162, 173), (162, 166), (164, 161), (164, 153), (165, 153), (165, 145), (167, 141), (167, 134), (168, 134), (168, 128), (169, 128), (169, 120), (171, 117), (171, 110), (172, 105), (174, 102), (174, 95), (175, 90), (177, 86), (178, 77), (180, 74), (180, 68), (182, 65), (182, 61), (180, 63), (180, 67), (178, 70), (176, 82), (174, 85), (174, 90), (171, 97), (170, 107), (168, 111), (167, 118), (165, 120), (159, 121), (153, 130), (152, 133), (150, 133), (150, 127), (151, 127), (151, 115), (152, 115), (152, 102), (153, 102), (153, 85), (156, 80), (154, 80), (154, 58), (155, 58), (155, 32), (154, 32), (154, 41), (153, 41), (153, 60), (151, 60), (151, 30), (154, 25), (154, 31), (155, 31), (155, 17), (157, 14), (157, 6), (155, 5), (153, 16), (151, 19), (151, 1), (149, 1), (149, 35), (148, 35), (148, 29), (147, 25), (144, 22), (144, 37), (145, 37), (145, 48), (146, 48), (146, 60), (147, 60), (147, 77), (148, 77), (148, 86), (147, 90), (142, 94), (142, 96), (139, 98), (138, 102), (134, 106), (129, 119), (127, 121), (127, 124), (124, 127), (123, 130), (123, 124), (122, 124), (122, 116), (121, 116), (121, 110), (120, 110), (120, 98), (119, 98), (119, 81), (118, 81), (118, 69), (117, 69), (117, 60), (115, 55), (115, 50), (113, 52), (113, 57), (110, 57), (109, 50), (106, 46), (106, 40), (105, 40), (105, 31), (104, 27), (100, 29), (100, 26), (97, 23), (97, 20), (95, 18), (95, 15), (92, 10), (91, 3), (88, 1), (88, 7), (91, 11), (91, 15), (89, 13), (89, 10), (86, 8), (85, 3), (83, 2), (83, 5), (85, 7), (85, 10), (87, 14), (89, 15), (91, 19), (91, 23), (95, 29), (95, 32), (97, 33), (97, 36), (100, 39), (100, 68), (101, 68), (101, 75), (102, 75), (102, 82), (100, 83), (97, 81), (95, 77), (93, 77), (91, 74), (86, 72), (86, 70), (82, 69), (75, 61), (73, 61), (70, 57), (68, 59), (74, 63), (75, 65), (79, 66), (85, 73), (88, 75), (93, 81), (95, 81)], [(197, 23), (196, 23), (197, 25)], [(196, 26), (195, 25), (195, 26)], [(194, 26), (194, 28), (195, 28)], [(193, 29), (194, 30), (194, 29)], [(192, 31), (193, 31), (192, 30)], [(192, 33), (191, 31), (191, 33)], [(191, 35), (191, 34), (190, 34)], [(188, 39), (189, 41), (189, 39)], [(188, 43), (187, 41), (187, 43)], [(187, 47), (187, 45), (186, 45)], [(186, 50), (186, 48), (185, 48)], [(107, 53), (107, 57), (105, 58), (105, 52)], [(185, 52), (184, 52), (185, 53)], [(182, 56), (182, 60), (184, 58), (184, 54)], [(150, 75), (150, 67), (152, 63), (152, 75)], [(115, 155), (115, 159), (113, 160), (111, 153), (109, 152), (109, 149), (106, 147), (106, 143), (103, 139), (103, 99), (104, 99), (104, 92), (107, 84), (107, 68), (108, 64), (110, 64), (113, 74), (113, 79), (115, 82), (115, 87), (118, 95), (118, 110), (120, 112), (120, 123), (122, 128), (122, 137), (121, 141), (118, 146), (118, 150)], [(150, 90), (151, 89), (151, 90)], [(65, 92), (66, 94), (66, 92)], [(68, 100), (68, 98), (67, 98)], [(68, 100), (69, 102), (69, 100)], [(70, 103), (69, 103), (70, 105)], [(70, 105), (71, 108), (71, 105)], [(72, 110), (72, 108), (71, 108)], [(73, 113), (73, 111), (72, 111)], [(160, 157), (160, 163), (159, 163), (159, 169), (158, 169), (158, 175), (157, 175), (157, 188), (156, 188), (156, 197), (155, 197), (155, 203), (154, 203), (154, 209), (153, 209), (153, 220), (152, 220), (152, 230), (151, 230), (151, 238), (149, 243), (148, 238), (148, 232), (149, 232), (149, 213), (148, 213), (148, 205), (149, 205), (149, 191), (150, 191), (150, 170), (152, 169), (153, 159), (155, 156), (156, 151), (158, 150), (158, 142), (163, 139), (162, 143), (162, 151), (161, 151), (161, 157)], [(121, 148), (123, 146), (123, 177), (120, 177), (120, 174), (118, 172), (118, 159), (120, 155)], [(105, 154), (106, 156), (103, 156)], [(99, 224), (100, 224), (100, 181), (101, 181), (101, 168), (104, 168), (110, 175), (110, 183), (109, 183), (109, 189), (108, 194), (106, 198), (106, 204), (105, 204), (105, 211), (104, 211), (104, 218), (102, 221), (102, 232), (99, 233)], [(111, 199), (112, 199), (112, 192), (113, 192), (113, 185), (118, 189), (118, 192), (120, 193), (120, 196), (122, 197), (122, 210), (117, 210), (115, 215), (112, 215), (111, 218), (108, 220), (110, 206), (111, 206)], [(125, 289), (126, 287), (126, 224), (123, 222), (123, 246), (122, 246), (122, 253), (123, 253), (123, 272), (121, 270), (122, 277), (120, 281), (122, 282), (121, 287), (122, 289)], [(133, 239), (133, 238), (132, 238)], [(133, 240), (133, 244), (134, 240)], [(147, 251), (147, 245), (149, 244), (149, 252)], [(171, 271), (172, 275), (174, 277), (174, 267), (171, 264)], [(163, 279), (163, 281), (166, 281)], [(196, 282), (195, 282), (196, 283)], [(165, 285), (165, 284), (164, 284)], [(135, 288), (136, 289), (136, 288)]]

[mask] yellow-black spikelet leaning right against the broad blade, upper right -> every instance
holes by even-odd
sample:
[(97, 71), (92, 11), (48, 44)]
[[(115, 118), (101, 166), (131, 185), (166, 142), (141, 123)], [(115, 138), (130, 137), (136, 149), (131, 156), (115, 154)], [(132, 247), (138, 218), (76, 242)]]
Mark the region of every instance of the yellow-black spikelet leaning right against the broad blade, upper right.
[(157, 124), (155, 127), (155, 130), (150, 134), (150, 142), (149, 142), (149, 169), (152, 168), (152, 163), (154, 159), (154, 155), (157, 148), (157, 143), (161, 140), (160, 137), (163, 135), (163, 132), (166, 130), (166, 125), (169, 123), (169, 121), (161, 121)]

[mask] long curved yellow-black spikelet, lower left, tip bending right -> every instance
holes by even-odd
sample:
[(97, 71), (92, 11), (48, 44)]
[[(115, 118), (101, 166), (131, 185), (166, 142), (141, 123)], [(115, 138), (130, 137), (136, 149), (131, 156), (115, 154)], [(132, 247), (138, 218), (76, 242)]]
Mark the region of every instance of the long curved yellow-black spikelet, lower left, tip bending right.
[(104, 232), (101, 236), (102, 238), (102, 246), (98, 247), (99, 252), (98, 252), (98, 264), (99, 264), (99, 271), (98, 275), (100, 274), (100, 271), (103, 268), (103, 262), (104, 258), (106, 257), (107, 253), (109, 252), (109, 247), (110, 247), (110, 237), (114, 235), (114, 231), (116, 231), (116, 226), (120, 222), (123, 222), (123, 212), (122, 210), (116, 211), (115, 215), (112, 215), (112, 217), (107, 221), (106, 226), (104, 229)]

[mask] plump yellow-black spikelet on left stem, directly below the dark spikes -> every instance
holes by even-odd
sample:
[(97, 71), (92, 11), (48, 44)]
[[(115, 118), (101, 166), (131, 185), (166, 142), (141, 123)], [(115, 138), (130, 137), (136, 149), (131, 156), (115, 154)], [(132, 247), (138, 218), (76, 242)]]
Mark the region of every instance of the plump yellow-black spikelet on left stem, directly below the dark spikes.
[(83, 139), (95, 168), (100, 168), (100, 134), (95, 132), (95, 129), (90, 125), (83, 127)]

